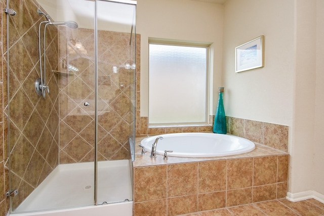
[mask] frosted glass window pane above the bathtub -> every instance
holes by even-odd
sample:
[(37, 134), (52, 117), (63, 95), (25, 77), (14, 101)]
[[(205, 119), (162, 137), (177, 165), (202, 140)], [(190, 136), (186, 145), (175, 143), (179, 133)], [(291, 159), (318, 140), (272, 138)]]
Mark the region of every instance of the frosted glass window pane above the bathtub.
[(208, 47), (149, 44), (149, 125), (207, 123)]

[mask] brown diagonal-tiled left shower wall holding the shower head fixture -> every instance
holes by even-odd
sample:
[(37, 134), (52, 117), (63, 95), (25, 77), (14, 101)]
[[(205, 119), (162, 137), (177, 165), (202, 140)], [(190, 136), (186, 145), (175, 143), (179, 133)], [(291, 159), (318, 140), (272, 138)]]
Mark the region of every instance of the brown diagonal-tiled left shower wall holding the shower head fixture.
[[(32, 190), (39, 185), (58, 164), (58, 77), (52, 73), (58, 63), (57, 28), (47, 30), (47, 84), (51, 93), (46, 100), (35, 92), (34, 83), (39, 77), (38, 56), (38, 23), (44, 17), (37, 14), (33, 1), (10, 1), (10, 8), (16, 16), (10, 16), (9, 25), (9, 57), (10, 57), (10, 136), (7, 137), (8, 106), (7, 106), (7, 43), (6, 14), (3, 13), (6, 2), (2, 1), (2, 74), (3, 76), (3, 109), (4, 119), (4, 155), (5, 182), (2, 186), (1, 215), (8, 210), (5, 206), (5, 192), (8, 188), (8, 149), (10, 139), (11, 184), (19, 191), (13, 199), (16, 207)], [(4, 121), (3, 121), (4, 120)], [(3, 169), (1, 170), (3, 176)], [(2, 181), (3, 182), (3, 181)], [(5, 190), (5, 191), (4, 191)], [(6, 199), (8, 200), (8, 199)]]

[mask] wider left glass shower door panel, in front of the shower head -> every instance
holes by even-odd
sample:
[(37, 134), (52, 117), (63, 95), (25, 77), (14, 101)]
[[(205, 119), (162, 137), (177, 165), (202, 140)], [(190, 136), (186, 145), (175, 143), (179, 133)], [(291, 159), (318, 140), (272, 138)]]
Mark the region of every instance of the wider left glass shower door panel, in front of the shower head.
[[(17, 12), (9, 16), (7, 34), (11, 211), (93, 205), (95, 3), (8, 4)], [(36, 91), (40, 77), (43, 95)]]

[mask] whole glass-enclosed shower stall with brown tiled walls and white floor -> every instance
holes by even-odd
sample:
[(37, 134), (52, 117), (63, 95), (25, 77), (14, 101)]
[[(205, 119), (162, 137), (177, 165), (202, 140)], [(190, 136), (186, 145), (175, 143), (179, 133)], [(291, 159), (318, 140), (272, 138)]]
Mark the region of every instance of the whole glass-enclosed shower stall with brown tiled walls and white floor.
[(136, 2), (7, 0), (7, 11), (11, 213), (132, 204)]

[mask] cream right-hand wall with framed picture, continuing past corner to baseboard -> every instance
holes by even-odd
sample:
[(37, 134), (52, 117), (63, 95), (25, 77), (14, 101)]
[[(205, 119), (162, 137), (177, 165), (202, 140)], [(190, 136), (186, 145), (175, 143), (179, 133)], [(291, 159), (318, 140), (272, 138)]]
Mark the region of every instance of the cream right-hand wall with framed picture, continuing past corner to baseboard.
[[(224, 5), (225, 112), (232, 117), (290, 127), (292, 194), (324, 191), (320, 135), (323, 49), (319, 41), (323, 11), (322, 3), (317, 4), (318, 15), (316, 1), (228, 0)], [(265, 67), (235, 73), (235, 46), (260, 35), (265, 35)]]

